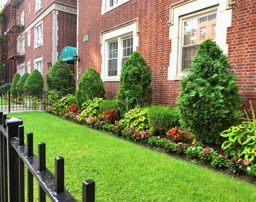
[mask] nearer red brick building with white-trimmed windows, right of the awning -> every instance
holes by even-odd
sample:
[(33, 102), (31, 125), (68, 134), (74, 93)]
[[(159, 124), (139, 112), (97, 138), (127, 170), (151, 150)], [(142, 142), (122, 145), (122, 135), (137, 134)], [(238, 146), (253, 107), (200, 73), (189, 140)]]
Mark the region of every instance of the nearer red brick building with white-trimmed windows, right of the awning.
[(117, 94), (122, 64), (138, 50), (152, 67), (154, 103), (174, 105), (181, 71), (197, 44), (212, 38), (230, 57), (241, 94), (256, 107), (255, 1), (95, 0), (77, 6), (78, 79), (96, 68), (107, 98)]

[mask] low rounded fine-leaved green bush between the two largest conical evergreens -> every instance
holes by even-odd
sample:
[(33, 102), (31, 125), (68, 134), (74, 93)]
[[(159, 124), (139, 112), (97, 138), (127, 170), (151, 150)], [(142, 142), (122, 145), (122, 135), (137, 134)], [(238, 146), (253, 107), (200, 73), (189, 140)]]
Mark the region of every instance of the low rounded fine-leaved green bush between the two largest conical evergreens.
[(164, 133), (173, 127), (179, 127), (180, 116), (177, 107), (156, 106), (148, 108), (148, 122), (156, 133)]

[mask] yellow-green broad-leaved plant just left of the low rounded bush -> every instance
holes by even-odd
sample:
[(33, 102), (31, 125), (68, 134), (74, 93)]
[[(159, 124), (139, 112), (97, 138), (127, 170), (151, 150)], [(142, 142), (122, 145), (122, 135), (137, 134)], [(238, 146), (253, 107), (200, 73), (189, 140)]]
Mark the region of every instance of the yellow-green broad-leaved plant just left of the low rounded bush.
[(135, 127), (135, 131), (145, 131), (148, 127), (148, 108), (133, 108), (125, 113), (124, 119), (127, 127)]

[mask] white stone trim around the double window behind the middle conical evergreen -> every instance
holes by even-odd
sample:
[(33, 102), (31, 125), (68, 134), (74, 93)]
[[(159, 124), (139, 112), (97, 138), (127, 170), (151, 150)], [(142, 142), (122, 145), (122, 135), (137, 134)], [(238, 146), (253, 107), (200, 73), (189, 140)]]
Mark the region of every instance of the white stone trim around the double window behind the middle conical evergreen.
[[(126, 25), (126, 26), (125, 26)], [(102, 81), (119, 81), (121, 74), (121, 60), (118, 61), (118, 69), (117, 76), (108, 77), (108, 43), (113, 42), (115, 40), (119, 41), (121, 46), (122, 39), (133, 37), (133, 52), (137, 50), (137, 46), (139, 45), (139, 36), (137, 35), (137, 19), (133, 20), (133, 22), (129, 22), (129, 24), (121, 25), (113, 28), (113, 30), (107, 30), (101, 32), (101, 55), (102, 55), (102, 65), (101, 65), (101, 78)], [(119, 48), (118, 55), (120, 58), (122, 57), (123, 49)]]

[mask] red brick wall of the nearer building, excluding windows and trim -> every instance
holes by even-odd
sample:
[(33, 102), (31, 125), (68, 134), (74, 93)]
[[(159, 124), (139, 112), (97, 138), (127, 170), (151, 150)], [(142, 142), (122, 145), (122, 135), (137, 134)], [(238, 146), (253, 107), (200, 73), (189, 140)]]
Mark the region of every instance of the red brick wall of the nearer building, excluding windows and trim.
[[(101, 15), (102, 0), (88, 3), (79, 1), (78, 51), (82, 73), (92, 66), (101, 71), (100, 32), (139, 19), (138, 50), (152, 67), (154, 103), (174, 105), (179, 94), (179, 81), (167, 79), (170, 65), (171, 40), (169, 40), (169, 7), (178, 0), (139, 1), (127, 3)], [(232, 9), (232, 26), (228, 28), (228, 56), (238, 75), (241, 94), (252, 100), (256, 107), (256, 3), (254, 0), (236, 0)], [(82, 36), (88, 34), (88, 42)], [(225, 37), (225, 36), (224, 36)], [(81, 77), (82, 74), (79, 75)], [(119, 82), (105, 82), (106, 96), (113, 98)], [(244, 103), (248, 108), (248, 102)]]

